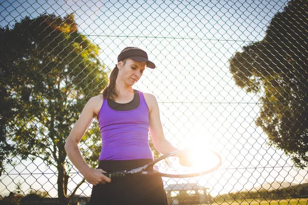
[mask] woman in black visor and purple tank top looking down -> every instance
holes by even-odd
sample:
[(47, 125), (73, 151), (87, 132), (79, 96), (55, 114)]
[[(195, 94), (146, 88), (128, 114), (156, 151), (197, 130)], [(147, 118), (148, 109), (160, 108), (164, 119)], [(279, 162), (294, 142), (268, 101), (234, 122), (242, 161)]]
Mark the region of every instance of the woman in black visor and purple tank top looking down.
[[(156, 66), (145, 51), (125, 48), (110, 74), (109, 85), (87, 102), (67, 138), (69, 159), (93, 185), (90, 204), (167, 204), (159, 176), (131, 175), (111, 181), (104, 175), (106, 171), (134, 169), (152, 161), (148, 131), (160, 153), (178, 150), (164, 137), (155, 96), (132, 88), (146, 67)], [(87, 165), (78, 147), (94, 117), (102, 134), (98, 169)]]

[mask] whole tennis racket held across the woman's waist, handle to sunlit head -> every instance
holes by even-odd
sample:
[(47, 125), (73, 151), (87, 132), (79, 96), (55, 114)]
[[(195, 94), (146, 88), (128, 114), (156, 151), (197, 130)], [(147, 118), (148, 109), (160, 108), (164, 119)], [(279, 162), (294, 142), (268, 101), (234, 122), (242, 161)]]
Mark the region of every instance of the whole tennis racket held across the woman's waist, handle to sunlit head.
[(137, 169), (107, 172), (104, 174), (110, 179), (131, 174), (184, 178), (213, 172), (220, 165), (221, 157), (214, 151), (181, 150), (165, 154)]

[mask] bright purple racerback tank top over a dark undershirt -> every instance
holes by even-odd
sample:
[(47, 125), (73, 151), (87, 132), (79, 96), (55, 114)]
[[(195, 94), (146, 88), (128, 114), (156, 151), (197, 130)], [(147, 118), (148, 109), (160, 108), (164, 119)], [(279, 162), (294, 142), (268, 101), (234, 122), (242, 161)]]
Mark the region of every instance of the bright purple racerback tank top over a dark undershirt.
[(102, 136), (99, 160), (152, 159), (148, 142), (149, 109), (144, 95), (138, 91), (140, 105), (129, 111), (112, 110), (103, 99), (98, 113)]

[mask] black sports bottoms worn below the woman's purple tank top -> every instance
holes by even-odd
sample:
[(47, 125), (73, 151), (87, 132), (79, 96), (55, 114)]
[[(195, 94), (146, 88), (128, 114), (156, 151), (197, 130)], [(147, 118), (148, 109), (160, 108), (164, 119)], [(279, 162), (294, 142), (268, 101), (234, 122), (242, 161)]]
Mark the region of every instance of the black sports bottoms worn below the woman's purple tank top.
[[(136, 169), (151, 162), (152, 159), (102, 160), (99, 169), (106, 172)], [(160, 176), (129, 175), (111, 179), (105, 185), (93, 186), (90, 204), (147, 204), (167, 205), (167, 196)]]

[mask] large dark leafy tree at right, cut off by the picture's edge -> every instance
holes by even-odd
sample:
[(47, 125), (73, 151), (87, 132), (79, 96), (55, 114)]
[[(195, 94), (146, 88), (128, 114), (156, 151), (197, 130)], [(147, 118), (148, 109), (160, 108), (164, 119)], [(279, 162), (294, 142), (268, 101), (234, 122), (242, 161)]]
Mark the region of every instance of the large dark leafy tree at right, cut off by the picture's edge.
[(270, 145), (308, 166), (308, 2), (292, 0), (277, 13), (260, 42), (230, 60), (230, 72), (247, 92), (264, 93), (256, 125)]

